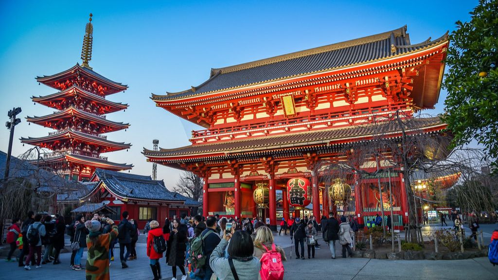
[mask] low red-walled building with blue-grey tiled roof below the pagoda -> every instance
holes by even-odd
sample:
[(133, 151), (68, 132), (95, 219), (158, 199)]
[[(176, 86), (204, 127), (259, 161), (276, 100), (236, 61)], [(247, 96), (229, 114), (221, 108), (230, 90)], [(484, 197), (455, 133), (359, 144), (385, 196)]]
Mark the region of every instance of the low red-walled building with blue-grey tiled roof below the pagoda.
[[(116, 172), (97, 168), (89, 182), (83, 183), (87, 191), (59, 194), (57, 205), (61, 213), (70, 207), (73, 213), (101, 213), (107, 209), (109, 218), (116, 222), (127, 211), (138, 228), (143, 229), (148, 219), (163, 223), (182, 214), (197, 213), (200, 202), (166, 188), (164, 181), (150, 176)], [(104, 211), (105, 212), (105, 211)], [(103, 213), (104, 213), (103, 212)]]

